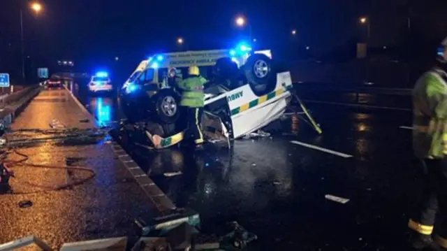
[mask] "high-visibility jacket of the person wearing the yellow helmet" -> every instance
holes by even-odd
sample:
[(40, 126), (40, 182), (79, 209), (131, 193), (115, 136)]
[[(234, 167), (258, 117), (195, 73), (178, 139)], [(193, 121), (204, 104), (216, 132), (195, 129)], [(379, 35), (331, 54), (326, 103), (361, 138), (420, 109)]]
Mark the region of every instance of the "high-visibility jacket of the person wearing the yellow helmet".
[(193, 76), (181, 81), (178, 85), (183, 89), (181, 106), (186, 107), (203, 107), (203, 84), (207, 80), (201, 76)]

